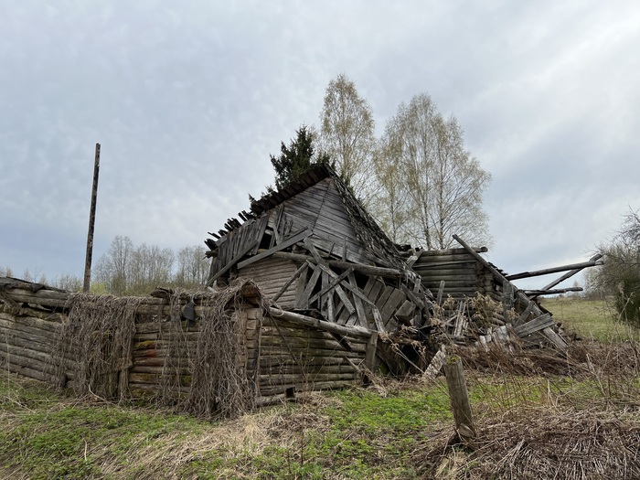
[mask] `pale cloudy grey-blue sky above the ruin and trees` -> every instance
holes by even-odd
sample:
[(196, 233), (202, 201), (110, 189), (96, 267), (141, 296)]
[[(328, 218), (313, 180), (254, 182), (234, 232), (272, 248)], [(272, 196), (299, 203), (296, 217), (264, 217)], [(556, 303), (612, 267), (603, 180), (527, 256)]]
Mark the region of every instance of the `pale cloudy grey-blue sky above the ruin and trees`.
[(489, 261), (585, 261), (640, 208), (638, 52), (635, 0), (0, 0), (0, 268), (82, 276), (96, 143), (94, 263), (117, 235), (201, 245), (340, 73), (379, 134), (420, 93), (458, 119)]

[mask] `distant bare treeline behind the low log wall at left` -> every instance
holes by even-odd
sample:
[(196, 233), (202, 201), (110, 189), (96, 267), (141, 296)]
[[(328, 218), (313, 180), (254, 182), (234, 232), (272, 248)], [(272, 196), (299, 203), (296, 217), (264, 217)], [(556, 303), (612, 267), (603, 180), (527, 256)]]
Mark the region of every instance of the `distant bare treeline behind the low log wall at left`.
[[(177, 252), (157, 245), (134, 245), (129, 237), (117, 236), (109, 250), (94, 262), (91, 293), (136, 295), (151, 292), (158, 286), (201, 287), (207, 279), (209, 261), (205, 247), (184, 247)], [(10, 268), (0, 267), (0, 276), (16, 277)], [(25, 270), (20, 276), (27, 282), (80, 292), (82, 279), (61, 274), (48, 281), (44, 274)]]

